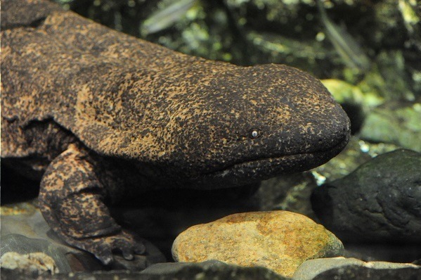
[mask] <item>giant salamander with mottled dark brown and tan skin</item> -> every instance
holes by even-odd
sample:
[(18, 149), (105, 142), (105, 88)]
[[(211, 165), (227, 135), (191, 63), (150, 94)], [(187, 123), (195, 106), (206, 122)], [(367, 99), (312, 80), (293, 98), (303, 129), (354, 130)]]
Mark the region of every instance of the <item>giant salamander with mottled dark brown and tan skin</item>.
[(41, 179), (51, 228), (105, 264), (144, 250), (105, 203), (309, 170), (349, 139), (305, 72), (186, 56), (41, 0), (1, 1), (1, 94), (2, 164)]

